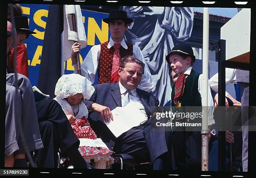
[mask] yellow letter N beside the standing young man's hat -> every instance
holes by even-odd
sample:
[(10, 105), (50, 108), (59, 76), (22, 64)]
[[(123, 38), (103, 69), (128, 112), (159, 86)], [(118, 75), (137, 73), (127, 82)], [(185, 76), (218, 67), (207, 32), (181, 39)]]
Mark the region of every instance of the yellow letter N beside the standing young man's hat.
[(108, 41), (108, 23), (102, 21), (102, 29), (100, 29), (99, 25), (96, 23), (94, 18), (88, 18), (88, 45), (95, 45), (95, 34), (100, 40), (100, 43), (104, 43)]

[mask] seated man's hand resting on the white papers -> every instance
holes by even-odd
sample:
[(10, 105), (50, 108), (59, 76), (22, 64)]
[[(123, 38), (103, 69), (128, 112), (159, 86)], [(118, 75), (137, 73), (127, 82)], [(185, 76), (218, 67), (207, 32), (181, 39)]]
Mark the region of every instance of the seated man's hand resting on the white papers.
[(99, 112), (103, 121), (110, 122), (110, 119), (113, 120), (113, 115), (109, 107), (105, 107), (100, 104), (93, 103), (90, 108), (92, 108), (96, 112)]

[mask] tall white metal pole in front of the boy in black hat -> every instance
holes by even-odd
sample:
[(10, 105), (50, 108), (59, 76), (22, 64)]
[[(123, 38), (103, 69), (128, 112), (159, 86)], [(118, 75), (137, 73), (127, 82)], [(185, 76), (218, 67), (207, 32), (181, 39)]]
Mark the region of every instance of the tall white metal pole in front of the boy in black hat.
[(208, 170), (208, 61), (209, 61), (209, 9), (203, 15), (203, 58), (202, 58), (202, 171)]

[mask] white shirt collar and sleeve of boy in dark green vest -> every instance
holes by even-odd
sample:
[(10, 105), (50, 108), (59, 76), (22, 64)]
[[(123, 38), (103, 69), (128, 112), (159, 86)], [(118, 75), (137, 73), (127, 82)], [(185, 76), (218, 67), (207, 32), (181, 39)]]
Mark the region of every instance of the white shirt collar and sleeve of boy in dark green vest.
[[(192, 70), (192, 67), (189, 67), (187, 69), (187, 71), (184, 72), (184, 74), (190, 75)], [(187, 78), (186, 76), (186, 78)], [(202, 102), (202, 74), (200, 74), (199, 79), (198, 79), (198, 92), (201, 95), (201, 102)], [(212, 94), (211, 94), (211, 90), (210, 90), (210, 82), (208, 80), (208, 125), (213, 125), (215, 124), (215, 121), (213, 119), (213, 112), (214, 112), (214, 103), (213, 103), (213, 99), (212, 99)]]

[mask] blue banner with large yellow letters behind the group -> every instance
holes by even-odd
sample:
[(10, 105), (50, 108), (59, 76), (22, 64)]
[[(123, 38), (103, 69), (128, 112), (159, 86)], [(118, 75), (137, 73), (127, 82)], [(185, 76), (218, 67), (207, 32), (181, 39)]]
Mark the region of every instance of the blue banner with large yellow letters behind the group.
[[(29, 29), (36, 32), (24, 41), (28, 51), (29, 79), (32, 86), (37, 85), (41, 53), (44, 41), (44, 31), (47, 22), (49, 5), (20, 4), (23, 15), (28, 17)], [(103, 18), (108, 18), (108, 13), (100, 13), (90, 10), (82, 10), (84, 29), (87, 36), (87, 47), (80, 52), (80, 61), (85, 58), (92, 46), (108, 41), (110, 32), (108, 24), (102, 22)], [(54, 39), (53, 39), (54, 40)], [(71, 49), (70, 49), (71, 50)], [(72, 74), (74, 67), (69, 59), (65, 63), (65, 74)], [(97, 76), (96, 76), (97, 77)], [(97, 82), (97, 78), (95, 79)]]

